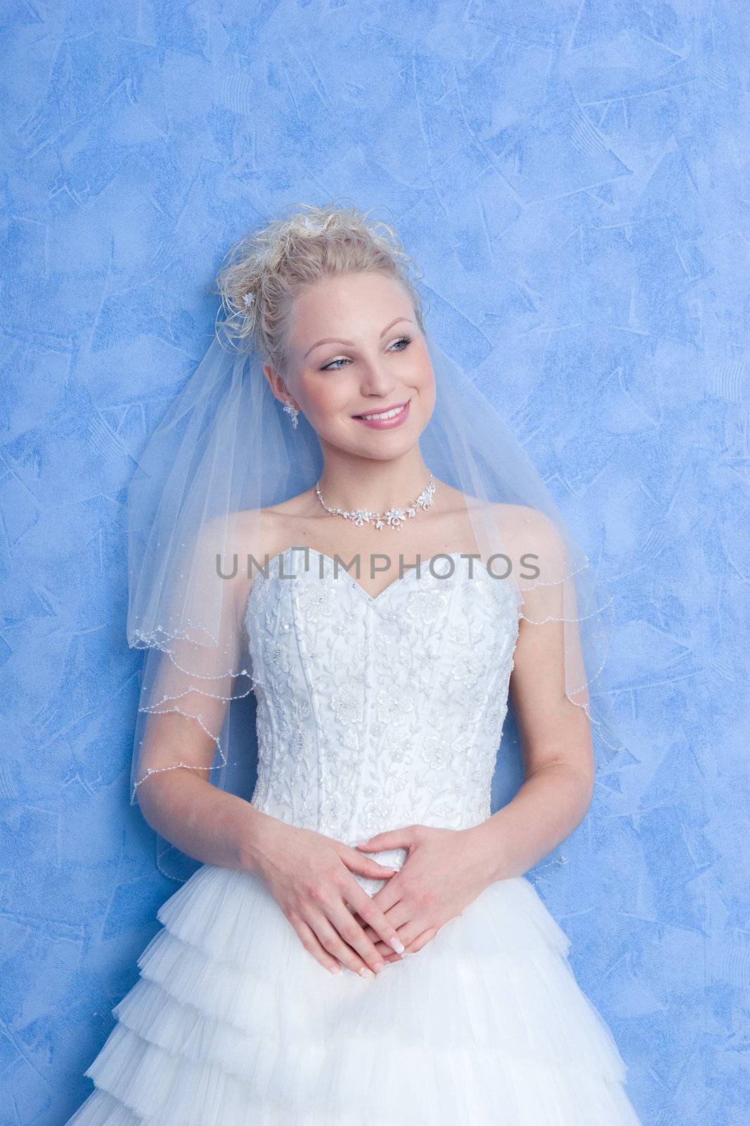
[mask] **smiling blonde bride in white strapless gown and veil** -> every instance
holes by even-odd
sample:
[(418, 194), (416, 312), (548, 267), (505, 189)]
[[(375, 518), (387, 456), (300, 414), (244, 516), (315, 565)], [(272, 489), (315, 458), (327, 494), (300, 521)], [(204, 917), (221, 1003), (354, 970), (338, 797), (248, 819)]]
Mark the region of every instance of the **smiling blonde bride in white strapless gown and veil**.
[(355, 208), (249, 235), (144, 455), (133, 801), (183, 882), (69, 1126), (638, 1124), (524, 876), (616, 745), (606, 606), (406, 263)]

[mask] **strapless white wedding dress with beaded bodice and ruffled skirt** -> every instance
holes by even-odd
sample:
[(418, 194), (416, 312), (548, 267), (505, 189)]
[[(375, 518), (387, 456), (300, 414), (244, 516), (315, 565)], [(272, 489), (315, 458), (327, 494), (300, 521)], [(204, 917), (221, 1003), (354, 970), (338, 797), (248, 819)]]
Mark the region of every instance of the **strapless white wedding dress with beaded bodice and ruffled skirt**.
[[(513, 588), (458, 554), (374, 598), (328, 556), (309, 564), (301, 548), (275, 556), (247, 604), (253, 804), (352, 846), (485, 821)], [(369, 894), (383, 883), (355, 878)], [(569, 940), (524, 877), (373, 978), (325, 969), (251, 873), (204, 865), (157, 918), (67, 1126), (639, 1124)]]

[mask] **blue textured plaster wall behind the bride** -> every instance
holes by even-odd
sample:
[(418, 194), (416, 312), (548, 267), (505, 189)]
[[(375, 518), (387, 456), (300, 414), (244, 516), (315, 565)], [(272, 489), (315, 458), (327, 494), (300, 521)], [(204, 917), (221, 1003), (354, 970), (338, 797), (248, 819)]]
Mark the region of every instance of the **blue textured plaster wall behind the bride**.
[(631, 758), (537, 888), (643, 1123), (740, 1126), (744, 6), (93, 7), (4, 20), (2, 1123), (90, 1091), (175, 888), (128, 804), (134, 458), (228, 245), (338, 195), (396, 223), (603, 566)]

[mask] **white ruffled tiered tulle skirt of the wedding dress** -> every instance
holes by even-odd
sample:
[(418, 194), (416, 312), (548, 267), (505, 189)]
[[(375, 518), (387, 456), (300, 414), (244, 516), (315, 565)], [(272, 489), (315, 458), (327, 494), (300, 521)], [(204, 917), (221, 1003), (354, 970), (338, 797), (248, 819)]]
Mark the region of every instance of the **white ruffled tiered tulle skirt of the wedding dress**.
[(251, 873), (204, 865), (157, 918), (66, 1126), (639, 1126), (523, 877), (373, 978), (325, 969)]

